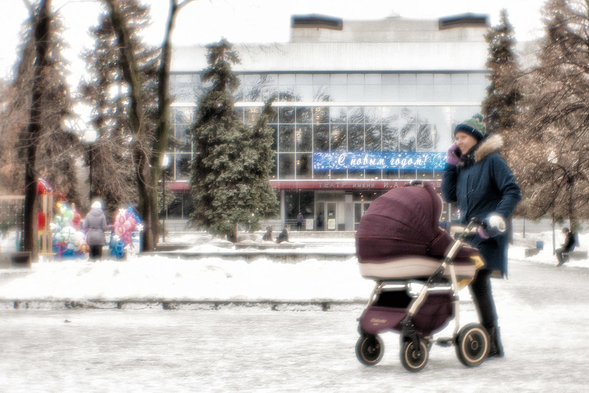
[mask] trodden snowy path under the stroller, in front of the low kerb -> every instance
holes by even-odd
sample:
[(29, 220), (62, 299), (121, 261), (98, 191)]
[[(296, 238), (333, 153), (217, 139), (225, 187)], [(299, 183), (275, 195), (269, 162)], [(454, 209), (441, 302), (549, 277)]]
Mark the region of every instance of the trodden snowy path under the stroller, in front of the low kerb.
[[(434, 346), (410, 374), (395, 333), (383, 335), (378, 365), (360, 365), (360, 309), (0, 310), (0, 391), (584, 391), (587, 269), (510, 268), (509, 280), (493, 281), (507, 355), (478, 368)], [(464, 324), (474, 311), (468, 302), (463, 311)]]

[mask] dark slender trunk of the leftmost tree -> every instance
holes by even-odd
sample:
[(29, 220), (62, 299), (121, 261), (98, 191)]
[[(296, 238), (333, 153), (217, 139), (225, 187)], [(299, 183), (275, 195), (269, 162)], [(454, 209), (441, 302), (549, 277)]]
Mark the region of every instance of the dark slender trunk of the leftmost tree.
[(31, 252), (31, 259), (37, 259), (37, 144), (41, 136), (42, 96), (47, 82), (44, 80), (45, 68), (48, 68), (48, 48), (51, 40), (51, 0), (42, 0), (39, 15), (35, 19), (35, 70), (32, 87), (32, 100), (29, 124), (26, 131), (27, 158), (25, 163), (25, 227), (23, 249)]

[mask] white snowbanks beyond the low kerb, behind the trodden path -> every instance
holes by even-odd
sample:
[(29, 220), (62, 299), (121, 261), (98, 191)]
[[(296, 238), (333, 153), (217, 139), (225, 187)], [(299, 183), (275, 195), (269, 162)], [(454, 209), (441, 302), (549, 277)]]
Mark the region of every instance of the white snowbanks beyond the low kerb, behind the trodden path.
[[(272, 253), (254, 260), (227, 260), (216, 253), (237, 253), (224, 240), (201, 233), (168, 236), (167, 243), (193, 245), (186, 253), (210, 253), (195, 259), (130, 253), (126, 260), (52, 260), (33, 263), (31, 269), (0, 269), (0, 299), (71, 300), (362, 300), (369, 296), (373, 282), (363, 279), (353, 253), (354, 239), (318, 239), (301, 234), (293, 240), (300, 248), (283, 248), (280, 253), (346, 253), (345, 260), (304, 259), (299, 263), (274, 260)], [(556, 236), (557, 246), (562, 242)], [(537, 255), (525, 257), (527, 247), (544, 242)], [(589, 233), (579, 235), (580, 250), (587, 250)], [(271, 246), (269, 242), (247, 240)], [(320, 242), (319, 245), (316, 243)], [(329, 244), (328, 244), (329, 243)], [(105, 250), (106, 251), (106, 250)], [(552, 232), (515, 233), (509, 259), (556, 265), (552, 255)], [(571, 260), (559, 269), (589, 267), (587, 260)]]

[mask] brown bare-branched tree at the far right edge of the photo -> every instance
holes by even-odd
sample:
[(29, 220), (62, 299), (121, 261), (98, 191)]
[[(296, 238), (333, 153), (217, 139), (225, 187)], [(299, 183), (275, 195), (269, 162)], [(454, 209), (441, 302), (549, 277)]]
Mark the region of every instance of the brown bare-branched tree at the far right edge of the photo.
[[(551, 0), (528, 76), (515, 166), (531, 217), (589, 217), (589, 2)], [(518, 148), (518, 146), (513, 146)]]

